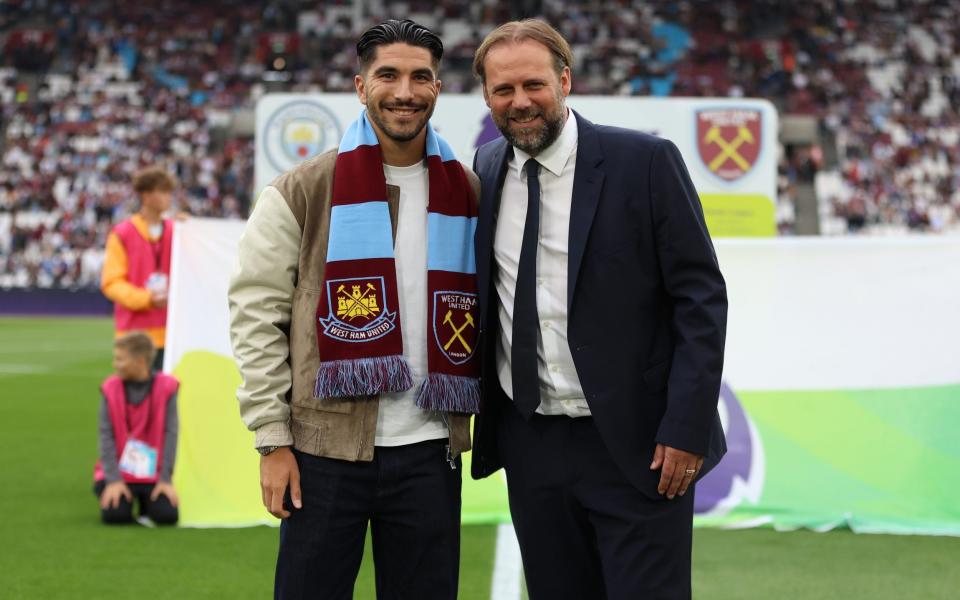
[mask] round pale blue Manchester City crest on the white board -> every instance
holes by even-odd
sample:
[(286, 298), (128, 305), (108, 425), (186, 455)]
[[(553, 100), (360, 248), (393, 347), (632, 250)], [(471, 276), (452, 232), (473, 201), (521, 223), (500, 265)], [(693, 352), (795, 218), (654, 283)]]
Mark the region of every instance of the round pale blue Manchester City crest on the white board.
[(298, 100), (270, 116), (264, 128), (263, 150), (273, 168), (283, 172), (335, 147), (342, 135), (336, 116), (325, 106)]

